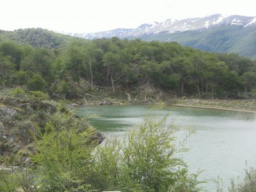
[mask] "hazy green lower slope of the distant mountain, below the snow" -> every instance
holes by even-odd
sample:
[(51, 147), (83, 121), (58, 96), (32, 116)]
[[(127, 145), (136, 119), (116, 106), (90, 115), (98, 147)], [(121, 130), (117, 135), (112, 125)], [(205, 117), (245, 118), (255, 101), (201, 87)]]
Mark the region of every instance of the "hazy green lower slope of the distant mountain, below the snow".
[(140, 38), (147, 41), (175, 41), (203, 51), (236, 52), (241, 56), (256, 59), (256, 27), (223, 25), (213, 29), (143, 35)]

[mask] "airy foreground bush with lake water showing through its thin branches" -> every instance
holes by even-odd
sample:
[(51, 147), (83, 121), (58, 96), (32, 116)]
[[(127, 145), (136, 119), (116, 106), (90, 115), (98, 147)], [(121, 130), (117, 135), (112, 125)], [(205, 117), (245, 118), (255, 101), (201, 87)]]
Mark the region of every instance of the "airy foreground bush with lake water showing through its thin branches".
[(175, 144), (176, 127), (173, 122), (166, 125), (167, 120), (168, 115), (152, 119), (152, 114), (147, 114), (123, 142), (115, 139), (97, 147), (100, 190), (199, 190), (197, 175), (189, 175), (186, 163), (177, 157), (187, 149)]

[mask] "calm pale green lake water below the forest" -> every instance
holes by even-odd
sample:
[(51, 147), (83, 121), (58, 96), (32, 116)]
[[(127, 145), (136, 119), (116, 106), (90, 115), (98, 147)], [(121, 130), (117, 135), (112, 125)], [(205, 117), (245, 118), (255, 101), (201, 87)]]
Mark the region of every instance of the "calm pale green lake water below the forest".
[[(99, 129), (106, 137), (122, 138), (125, 131), (139, 123), (151, 106), (83, 106), (77, 109), (77, 115), (98, 117), (89, 118), (90, 124)], [(165, 115), (170, 108), (157, 111)], [(200, 179), (223, 180), (223, 189), (227, 191), (230, 179), (242, 180), (244, 168), (256, 168), (256, 114), (217, 109), (173, 108), (172, 115), (179, 124), (177, 140), (184, 137), (184, 127), (196, 130), (186, 141), (189, 152), (184, 154), (189, 170), (203, 170)], [(216, 191), (214, 182), (204, 184), (207, 191)]]

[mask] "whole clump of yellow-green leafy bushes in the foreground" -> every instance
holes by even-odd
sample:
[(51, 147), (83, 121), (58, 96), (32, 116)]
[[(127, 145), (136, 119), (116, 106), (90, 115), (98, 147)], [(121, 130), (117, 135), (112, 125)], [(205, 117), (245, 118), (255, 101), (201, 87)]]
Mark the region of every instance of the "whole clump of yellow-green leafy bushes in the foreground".
[(0, 179), (0, 184), (24, 191), (199, 191), (198, 174), (190, 175), (178, 156), (187, 149), (174, 142), (177, 127), (168, 125), (169, 115), (152, 115), (145, 115), (124, 140), (115, 138), (104, 145), (94, 141), (95, 129), (77, 129), (65, 116), (63, 127), (58, 127), (59, 115), (58, 124), (47, 123), (44, 133), (35, 137), (38, 153), (26, 170), (36, 177), (19, 172), (12, 180)]

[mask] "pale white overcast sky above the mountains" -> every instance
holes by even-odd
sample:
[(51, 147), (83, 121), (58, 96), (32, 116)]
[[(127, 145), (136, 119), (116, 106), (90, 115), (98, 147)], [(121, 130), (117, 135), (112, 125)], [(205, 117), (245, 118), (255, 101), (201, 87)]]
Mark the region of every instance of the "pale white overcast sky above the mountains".
[(1, 0), (0, 29), (91, 33), (216, 13), (256, 16), (255, 0)]

